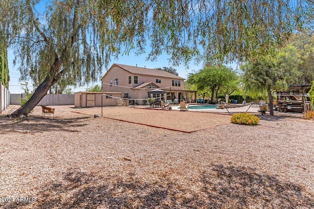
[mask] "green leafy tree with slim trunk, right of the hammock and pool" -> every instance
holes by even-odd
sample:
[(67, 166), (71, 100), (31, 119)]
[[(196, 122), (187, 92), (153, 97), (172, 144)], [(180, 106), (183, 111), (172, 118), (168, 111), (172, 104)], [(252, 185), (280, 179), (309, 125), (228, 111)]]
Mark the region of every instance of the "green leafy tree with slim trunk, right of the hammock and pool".
[(274, 52), (240, 66), (247, 91), (267, 91), (270, 115), (273, 115), (272, 91), (286, 90), (299, 76), (299, 59), (295, 47), (287, 46)]

